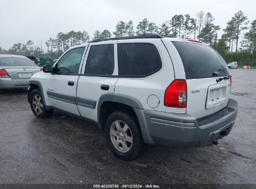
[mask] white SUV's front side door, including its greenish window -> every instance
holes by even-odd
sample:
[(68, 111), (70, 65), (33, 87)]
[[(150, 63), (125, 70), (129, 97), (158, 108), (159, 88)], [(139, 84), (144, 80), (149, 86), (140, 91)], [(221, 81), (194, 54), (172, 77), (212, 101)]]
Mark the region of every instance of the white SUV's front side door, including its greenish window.
[(55, 64), (54, 74), (49, 75), (47, 96), (49, 103), (57, 109), (80, 115), (76, 105), (78, 73), (85, 47), (73, 48)]

